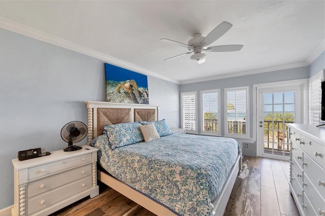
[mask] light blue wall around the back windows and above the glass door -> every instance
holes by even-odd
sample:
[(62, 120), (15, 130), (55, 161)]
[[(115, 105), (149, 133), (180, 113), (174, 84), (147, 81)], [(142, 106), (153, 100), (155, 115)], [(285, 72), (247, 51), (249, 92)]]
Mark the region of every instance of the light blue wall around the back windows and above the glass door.
[[(180, 92), (198, 91), (198, 101), (201, 101), (200, 91), (209, 89), (220, 89), (220, 113), (224, 113), (224, 88), (249, 86), (249, 135), (253, 137), (253, 84), (278, 82), (287, 80), (296, 80), (309, 78), (308, 66), (291, 68), (285, 70), (271, 71), (255, 75), (233, 77), (220, 80), (211, 80), (199, 83), (183, 84), (180, 86)], [(201, 113), (200, 103), (198, 103), (198, 113)], [(224, 122), (224, 116), (220, 116), (220, 122)], [(198, 131), (201, 131), (201, 118), (198, 118)], [(220, 127), (221, 134), (224, 135), (224, 128)], [(238, 139), (242, 142), (253, 142), (254, 140)]]

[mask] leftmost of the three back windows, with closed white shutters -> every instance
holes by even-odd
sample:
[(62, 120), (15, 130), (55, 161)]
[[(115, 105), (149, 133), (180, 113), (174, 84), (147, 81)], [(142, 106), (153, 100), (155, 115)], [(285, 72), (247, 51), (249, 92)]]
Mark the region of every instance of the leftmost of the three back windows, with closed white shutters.
[(188, 133), (198, 132), (197, 92), (181, 93), (181, 125)]

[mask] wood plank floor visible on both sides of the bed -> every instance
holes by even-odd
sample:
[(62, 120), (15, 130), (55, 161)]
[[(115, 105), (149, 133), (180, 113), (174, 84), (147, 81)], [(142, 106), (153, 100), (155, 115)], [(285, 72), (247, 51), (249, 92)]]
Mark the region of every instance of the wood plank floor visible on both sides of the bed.
[[(224, 215), (299, 215), (289, 193), (289, 162), (243, 157), (243, 172)], [(86, 197), (51, 216), (63, 215), (155, 215), (113, 189), (100, 184), (100, 195)]]

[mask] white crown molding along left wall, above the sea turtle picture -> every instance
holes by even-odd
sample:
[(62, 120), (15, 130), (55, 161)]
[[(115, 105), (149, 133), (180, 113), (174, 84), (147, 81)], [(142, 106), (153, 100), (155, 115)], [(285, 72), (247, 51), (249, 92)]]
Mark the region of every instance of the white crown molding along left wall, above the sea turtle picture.
[(136, 71), (136, 72), (141, 73), (141, 74), (156, 77), (156, 78), (166, 80), (166, 81), (176, 83), (176, 84), (180, 83), (177, 80), (173, 80), (173, 79), (170, 79), (168, 77), (157, 75), (157, 74), (155, 74), (155, 73), (153, 73), (153, 72), (151, 72), (149, 70), (146, 70), (146, 69), (144, 69), (142, 67), (139, 67), (139, 66), (137, 66), (135, 64), (131, 64), (131, 63), (128, 63), (126, 61), (120, 60), (118, 58), (114, 58), (112, 56), (106, 55), (104, 53), (101, 53), (101, 52), (98, 52), (98, 51), (95, 51), (95, 50), (91, 50), (89, 48), (80, 46), (78, 44), (69, 42), (67, 40), (63, 40), (63, 39), (55, 37), (55, 36), (53, 36), (51, 34), (45, 33), (43, 31), (39, 31), (39, 30), (37, 30), (35, 28), (30, 28), (30, 27), (28, 27), (26, 25), (22, 25), (20, 23), (11, 21), (11, 20), (6, 19), (6, 18), (1, 17), (1, 16), (0, 16), (0, 28), (4, 28), (4, 29), (10, 30), (10, 31), (25, 35), (25, 36), (27, 36), (29, 38), (34, 38), (34, 39), (37, 39), (39, 41), (43, 41), (43, 42), (53, 44), (53, 45), (58, 46), (58, 47), (62, 47), (62, 48), (68, 49), (68, 50), (72, 50), (72, 51), (75, 51), (75, 52), (78, 52), (78, 53), (81, 53), (81, 54), (84, 54), (84, 55), (87, 55), (87, 56), (90, 56), (90, 57), (93, 57), (93, 58), (97, 58), (97, 59), (103, 60), (103, 61), (105, 61), (107, 63), (114, 64), (116, 66), (123, 67), (125, 69), (133, 70), (133, 71)]

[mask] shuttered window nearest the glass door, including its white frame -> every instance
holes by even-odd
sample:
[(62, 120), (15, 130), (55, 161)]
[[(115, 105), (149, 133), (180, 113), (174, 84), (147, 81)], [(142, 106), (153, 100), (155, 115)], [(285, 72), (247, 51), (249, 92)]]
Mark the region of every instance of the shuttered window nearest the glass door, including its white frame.
[(248, 87), (226, 88), (225, 94), (225, 135), (249, 137)]

